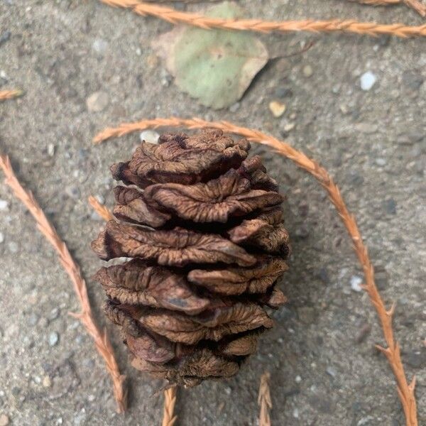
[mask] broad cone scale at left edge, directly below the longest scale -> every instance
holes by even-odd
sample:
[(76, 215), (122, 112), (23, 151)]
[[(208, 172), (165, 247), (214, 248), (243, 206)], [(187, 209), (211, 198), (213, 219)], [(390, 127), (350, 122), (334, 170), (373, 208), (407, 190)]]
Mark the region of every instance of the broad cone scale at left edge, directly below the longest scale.
[(129, 305), (163, 307), (195, 315), (214, 302), (197, 296), (185, 276), (160, 266), (148, 266), (139, 259), (101, 268), (94, 279), (113, 300)]

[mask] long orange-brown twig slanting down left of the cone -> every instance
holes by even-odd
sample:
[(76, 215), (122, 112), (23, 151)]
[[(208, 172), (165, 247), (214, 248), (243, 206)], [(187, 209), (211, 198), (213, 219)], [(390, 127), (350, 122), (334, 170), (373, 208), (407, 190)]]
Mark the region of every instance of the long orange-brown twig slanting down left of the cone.
[(21, 186), (21, 183), (16, 178), (15, 173), (13, 173), (11, 162), (7, 155), (0, 155), (0, 168), (3, 169), (4, 175), (6, 175), (6, 184), (11, 187), (15, 196), (21, 200), (21, 202), (33, 215), (35, 222), (37, 222), (38, 230), (57, 251), (60, 263), (70, 276), (72, 284), (74, 285), (75, 293), (77, 294), (82, 308), (82, 312), (72, 315), (78, 318), (84, 327), (86, 327), (87, 332), (94, 340), (97, 351), (104, 358), (114, 386), (114, 396), (118, 405), (117, 411), (119, 413), (123, 413), (126, 408), (126, 392), (124, 391), (125, 376), (120, 374), (119, 366), (114, 358), (114, 349), (112, 349), (107, 333), (101, 332), (94, 322), (89, 297), (87, 295), (86, 283), (84, 282), (84, 278), (82, 278), (80, 268), (72, 259), (70, 251), (68, 251), (64, 241), (60, 239), (53, 225), (50, 224), (48, 219), (45, 217), (43, 210), (38, 205), (33, 194), (30, 191), (24, 190)]

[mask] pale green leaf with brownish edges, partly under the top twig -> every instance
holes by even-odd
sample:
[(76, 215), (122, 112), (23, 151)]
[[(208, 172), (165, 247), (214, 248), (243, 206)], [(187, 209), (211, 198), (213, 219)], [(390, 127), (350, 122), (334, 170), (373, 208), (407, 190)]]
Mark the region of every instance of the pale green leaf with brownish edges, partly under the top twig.
[[(225, 1), (206, 15), (238, 18), (241, 11)], [(161, 35), (153, 47), (166, 61), (178, 87), (214, 109), (237, 102), (268, 62), (265, 45), (247, 32), (177, 27)]]

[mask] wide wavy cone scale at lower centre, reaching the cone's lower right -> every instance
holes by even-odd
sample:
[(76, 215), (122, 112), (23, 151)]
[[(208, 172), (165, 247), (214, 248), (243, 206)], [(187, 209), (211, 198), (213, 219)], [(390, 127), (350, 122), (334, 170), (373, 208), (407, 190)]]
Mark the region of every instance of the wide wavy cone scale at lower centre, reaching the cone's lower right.
[(143, 327), (167, 337), (172, 342), (185, 344), (197, 344), (204, 339), (217, 342), (228, 334), (259, 327), (273, 327), (273, 321), (260, 306), (238, 302), (193, 317), (170, 311), (149, 312), (142, 315), (139, 321)]

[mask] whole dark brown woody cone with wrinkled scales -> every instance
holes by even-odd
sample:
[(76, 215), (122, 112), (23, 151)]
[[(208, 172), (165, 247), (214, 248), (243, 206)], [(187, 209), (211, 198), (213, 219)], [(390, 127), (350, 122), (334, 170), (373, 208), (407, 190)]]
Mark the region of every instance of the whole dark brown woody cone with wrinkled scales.
[(97, 255), (133, 258), (101, 268), (131, 364), (194, 386), (233, 376), (285, 296), (276, 283), (290, 251), (283, 197), (247, 141), (222, 131), (166, 134), (112, 165), (114, 216)]

